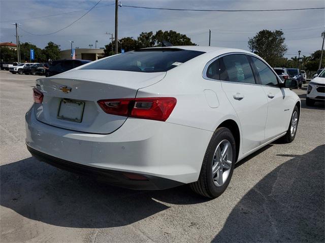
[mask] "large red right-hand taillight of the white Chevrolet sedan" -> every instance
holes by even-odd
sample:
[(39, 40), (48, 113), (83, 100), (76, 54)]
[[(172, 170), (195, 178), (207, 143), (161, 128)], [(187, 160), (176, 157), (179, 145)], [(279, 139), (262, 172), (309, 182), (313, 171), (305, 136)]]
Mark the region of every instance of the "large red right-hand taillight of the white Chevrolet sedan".
[(165, 121), (172, 113), (177, 100), (173, 97), (99, 100), (108, 114)]

